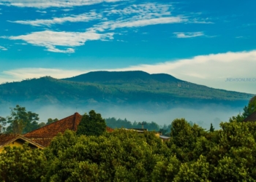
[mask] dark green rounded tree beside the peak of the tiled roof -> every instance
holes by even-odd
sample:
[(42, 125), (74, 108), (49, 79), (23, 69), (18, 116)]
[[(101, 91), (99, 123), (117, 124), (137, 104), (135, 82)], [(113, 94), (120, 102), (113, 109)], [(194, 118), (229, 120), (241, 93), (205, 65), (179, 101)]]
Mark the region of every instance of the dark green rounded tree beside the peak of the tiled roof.
[(101, 114), (97, 114), (91, 110), (88, 114), (84, 114), (80, 124), (78, 125), (78, 135), (102, 135), (106, 131), (105, 119), (102, 119)]

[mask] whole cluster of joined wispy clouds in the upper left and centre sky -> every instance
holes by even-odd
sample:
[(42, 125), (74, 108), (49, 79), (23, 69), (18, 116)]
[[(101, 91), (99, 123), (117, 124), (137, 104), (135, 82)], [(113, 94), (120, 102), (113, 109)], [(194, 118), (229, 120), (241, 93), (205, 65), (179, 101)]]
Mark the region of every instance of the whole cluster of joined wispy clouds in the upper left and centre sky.
[[(85, 33), (38, 31), (21, 36), (9, 36), (7, 39), (23, 40), (29, 44), (46, 47), (50, 52), (72, 53), (72, 47), (82, 46), (87, 40), (113, 39), (116, 28), (133, 28), (146, 25), (157, 25), (164, 23), (182, 23), (187, 21), (184, 17), (175, 17), (170, 13), (171, 5), (163, 4), (138, 4), (125, 7), (124, 9), (105, 9), (102, 12), (86, 12), (80, 15), (69, 15), (67, 17), (54, 17), (48, 20), (17, 20), (12, 23), (42, 26), (62, 24), (66, 22), (86, 22), (98, 20), (99, 23), (87, 28)], [(117, 17), (116, 17), (117, 16)], [(108, 33), (107, 33), (108, 32)], [(68, 47), (59, 49), (57, 46)]]

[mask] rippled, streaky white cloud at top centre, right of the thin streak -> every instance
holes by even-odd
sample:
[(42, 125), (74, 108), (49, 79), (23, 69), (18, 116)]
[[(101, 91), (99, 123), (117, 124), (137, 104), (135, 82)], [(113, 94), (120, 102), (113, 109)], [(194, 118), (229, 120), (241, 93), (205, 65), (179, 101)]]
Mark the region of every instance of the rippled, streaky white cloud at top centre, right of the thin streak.
[(184, 23), (186, 17), (173, 16), (170, 13), (170, 4), (138, 4), (126, 7), (124, 9), (106, 9), (106, 16), (119, 15), (115, 20), (94, 25), (88, 30), (105, 31), (116, 28), (132, 28), (147, 25), (167, 24), (167, 23)]

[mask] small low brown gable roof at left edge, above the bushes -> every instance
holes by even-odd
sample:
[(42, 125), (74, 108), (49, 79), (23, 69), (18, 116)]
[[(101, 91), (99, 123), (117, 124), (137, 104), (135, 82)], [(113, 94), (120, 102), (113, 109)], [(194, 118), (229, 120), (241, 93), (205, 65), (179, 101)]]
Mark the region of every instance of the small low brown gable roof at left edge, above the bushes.
[(0, 135), (0, 149), (4, 148), (4, 146), (7, 146), (8, 144), (14, 142), (14, 141), (23, 141), (28, 142), (29, 145), (35, 146), (39, 149), (43, 149), (44, 146), (40, 145), (39, 143), (35, 143), (34, 141), (29, 140), (29, 138), (25, 138), (22, 135), (18, 134), (1, 134)]

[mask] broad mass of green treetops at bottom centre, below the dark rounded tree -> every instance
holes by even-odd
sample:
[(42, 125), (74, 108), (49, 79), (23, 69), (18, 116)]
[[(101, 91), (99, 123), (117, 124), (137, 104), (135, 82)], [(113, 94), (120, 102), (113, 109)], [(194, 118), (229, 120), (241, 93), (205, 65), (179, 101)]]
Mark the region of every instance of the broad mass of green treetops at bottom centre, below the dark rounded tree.
[[(70, 138), (76, 142), (62, 147)], [(67, 131), (53, 143), (45, 150), (50, 167), (44, 181), (150, 181), (156, 152), (168, 150), (154, 133), (126, 130), (80, 137)]]

